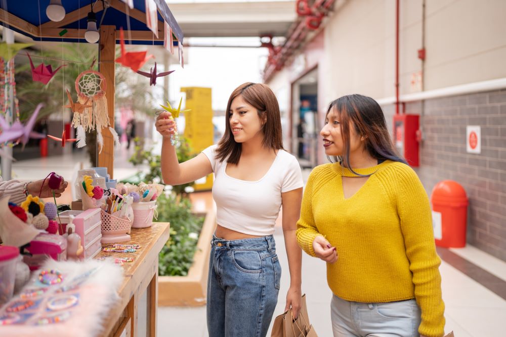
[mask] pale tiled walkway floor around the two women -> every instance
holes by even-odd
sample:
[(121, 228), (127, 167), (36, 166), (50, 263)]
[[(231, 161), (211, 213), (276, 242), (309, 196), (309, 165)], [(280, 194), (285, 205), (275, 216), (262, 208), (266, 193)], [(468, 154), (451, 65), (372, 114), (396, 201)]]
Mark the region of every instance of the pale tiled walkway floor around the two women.
[[(137, 169), (128, 163), (129, 154), (125, 149), (115, 154), (115, 178), (125, 178), (134, 174)], [(62, 174), (66, 180), (73, 181), (73, 172), (83, 163), (89, 166), (86, 155), (74, 155), (64, 157), (48, 157), (28, 161), (20, 161), (13, 164), (13, 173), (20, 179), (44, 178), (49, 172), (56, 171)], [(308, 172), (305, 172), (307, 177)], [(196, 211), (212, 205), (209, 194), (199, 193), (194, 196), (194, 208)], [(71, 199), (66, 194), (59, 202)], [(280, 221), (278, 221), (280, 223)], [(276, 227), (275, 239), (278, 243), (279, 261), (283, 267), (281, 290), (278, 306), (275, 314), (282, 313), (284, 309), (284, 297), (289, 283), (288, 264), (286, 253), (283, 249), (283, 235), (280, 226)], [(483, 274), (493, 275), (494, 282), (506, 281), (506, 263), (490, 255), (468, 246), (463, 249), (450, 249), (452, 254), (449, 262), (441, 264), (443, 299), (446, 304), (446, 331), (453, 330), (456, 337), (502, 337), (506, 336), (506, 300), (487, 287), (480, 284), (480, 275), (467, 276), (465, 272), (480, 274), (480, 269), (462, 267), (462, 261), (455, 256), (465, 259), (472, 265), (479, 266), (486, 271)], [(458, 268), (451, 265), (455, 263)], [(322, 261), (303, 255), (303, 292), (307, 294), (308, 311), (311, 323), (315, 326), (320, 337), (332, 336), (330, 327), (329, 302), (331, 293), (326, 284), (325, 265)], [(486, 282), (485, 282), (486, 284)], [(499, 283), (505, 287), (506, 283)], [(500, 292), (499, 292), (500, 293)], [(160, 307), (158, 310), (158, 335), (202, 337), (207, 336), (205, 327), (205, 307), (200, 308), (171, 308)]]

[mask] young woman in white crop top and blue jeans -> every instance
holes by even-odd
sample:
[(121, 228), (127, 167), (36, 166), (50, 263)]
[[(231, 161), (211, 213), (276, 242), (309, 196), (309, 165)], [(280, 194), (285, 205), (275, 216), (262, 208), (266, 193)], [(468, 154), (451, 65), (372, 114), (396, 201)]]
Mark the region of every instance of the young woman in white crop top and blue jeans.
[(227, 111), (218, 145), (181, 164), (170, 141), (176, 125), (170, 113), (160, 114), (155, 126), (163, 136), (161, 170), (172, 185), (215, 174), (218, 226), (207, 282), (209, 337), (265, 336), (281, 277), (272, 236), (281, 206), (290, 272), (285, 309), (291, 306), (296, 316), (300, 309), (302, 254), (296, 230), (302, 173), (297, 159), (283, 150), (279, 106), (267, 85), (240, 85)]

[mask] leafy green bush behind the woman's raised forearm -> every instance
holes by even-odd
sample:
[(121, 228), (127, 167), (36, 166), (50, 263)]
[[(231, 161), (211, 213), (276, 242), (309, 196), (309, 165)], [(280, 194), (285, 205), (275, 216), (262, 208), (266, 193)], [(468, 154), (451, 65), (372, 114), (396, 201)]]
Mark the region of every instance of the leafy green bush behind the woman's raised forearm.
[[(134, 138), (134, 141), (136, 146), (134, 154), (129, 159), (129, 161), (134, 164), (134, 166), (142, 165), (144, 163), (147, 163), (149, 166), (149, 172), (142, 175), (142, 180), (146, 182), (153, 182), (154, 180), (159, 179), (159, 181), (162, 181), (161, 156), (153, 153), (153, 147), (149, 148), (148, 150), (144, 150), (143, 143), (140, 143), (138, 137)], [(139, 143), (141, 145), (138, 145)], [(195, 157), (195, 155), (191, 154), (191, 148), (185, 137), (180, 137), (180, 142), (176, 146), (176, 154), (180, 163), (186, 162), (187, 160)], [(141, 172), (139, 172), (138, 175), (141, 175)], [(185, 191), (185, 188), (193, 185), (194, 182), (189, 182), (182, 185), (174, 185), (173, 190), (176, 195), (187, 198), (188, 193)]]

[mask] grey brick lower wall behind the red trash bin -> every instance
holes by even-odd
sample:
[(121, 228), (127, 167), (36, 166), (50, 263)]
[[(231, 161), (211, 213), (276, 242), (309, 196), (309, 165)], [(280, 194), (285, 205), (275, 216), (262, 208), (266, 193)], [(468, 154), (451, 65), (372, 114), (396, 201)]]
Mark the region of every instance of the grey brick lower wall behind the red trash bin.
[[(395, 108), (383, 108), (391, 127)], [(419, 114), (422, 104), (405, 109)], [(427, 100), (424, 110), (418, 176), (429, 196), (438, 181), (460, 183), (470, 200), (468, 243), (506, 261), (506, 90)], [(481, 154), (466, 152), (466, 125), (481, 126)]]

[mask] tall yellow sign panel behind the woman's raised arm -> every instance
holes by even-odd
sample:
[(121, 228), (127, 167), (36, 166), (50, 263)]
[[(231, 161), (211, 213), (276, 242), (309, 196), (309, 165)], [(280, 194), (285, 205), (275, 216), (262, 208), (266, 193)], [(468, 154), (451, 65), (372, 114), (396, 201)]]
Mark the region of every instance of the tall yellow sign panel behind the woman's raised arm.
[[(192, 153), (198, 154), (213, 145), (213, 106), (211, 104), (211, 88), (195, 86), (181, 88), (186, 92), (184, 136), (188, 139)], [(213, 176), (208, 175), (202, 181), (196, 181), (195, 190), (208, 190), (213, 187)]]

